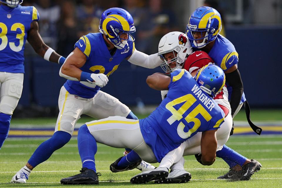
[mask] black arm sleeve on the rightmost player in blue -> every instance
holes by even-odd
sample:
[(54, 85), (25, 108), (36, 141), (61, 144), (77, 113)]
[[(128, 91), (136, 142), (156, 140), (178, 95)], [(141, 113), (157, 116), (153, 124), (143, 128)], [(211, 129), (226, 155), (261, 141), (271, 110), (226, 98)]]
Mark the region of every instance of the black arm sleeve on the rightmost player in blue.
[(231, 115), (233, 116), (238, 105), (240, 104), (243, 95), (243, 83), (238, 69), (234, 70), (231, 73), (225, 74), (225, 76), (226, 76), (226, 82), (232, 88), (230, 106), (231, 106)]

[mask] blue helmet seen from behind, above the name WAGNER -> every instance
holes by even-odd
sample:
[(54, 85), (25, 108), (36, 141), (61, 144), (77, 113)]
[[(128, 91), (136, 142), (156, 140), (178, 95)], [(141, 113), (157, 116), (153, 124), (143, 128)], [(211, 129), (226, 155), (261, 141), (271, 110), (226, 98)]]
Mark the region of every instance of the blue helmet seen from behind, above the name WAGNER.
[(225, 85), (225, 74), (223, 70), (216, 65), (210, 64), (203, 66), (198, 70), (194, 78), (200, 88), (211, 97), (219, 93)]

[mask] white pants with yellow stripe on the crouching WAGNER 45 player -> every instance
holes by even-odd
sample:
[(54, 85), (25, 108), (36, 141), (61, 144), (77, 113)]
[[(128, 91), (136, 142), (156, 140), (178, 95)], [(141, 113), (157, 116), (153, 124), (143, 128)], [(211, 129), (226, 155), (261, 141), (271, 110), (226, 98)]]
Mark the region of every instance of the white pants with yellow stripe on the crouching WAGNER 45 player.
[(113, 116), (85, 124), (98, 143), (115, 148), (130, 148), (142, 160), (153, 163), (157, 162), (152, 149), (143, 139), (139, 120)]

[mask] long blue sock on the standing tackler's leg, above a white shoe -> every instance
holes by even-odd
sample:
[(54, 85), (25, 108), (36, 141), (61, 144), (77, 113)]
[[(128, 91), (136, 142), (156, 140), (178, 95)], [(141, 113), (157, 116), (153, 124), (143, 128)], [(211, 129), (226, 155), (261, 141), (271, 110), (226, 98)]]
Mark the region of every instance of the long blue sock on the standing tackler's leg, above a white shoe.
[(33, 168), (36, 167), (38, 164), (49, 159), (54, 151), (66, 145), (66, 143), (70, 141), (70, 138), (71, 135), (68, 132), (55, 132), (50, 139), (46, 140), (38, 146), (38, 148), (28, 160), (28, 163), (31, 164)]

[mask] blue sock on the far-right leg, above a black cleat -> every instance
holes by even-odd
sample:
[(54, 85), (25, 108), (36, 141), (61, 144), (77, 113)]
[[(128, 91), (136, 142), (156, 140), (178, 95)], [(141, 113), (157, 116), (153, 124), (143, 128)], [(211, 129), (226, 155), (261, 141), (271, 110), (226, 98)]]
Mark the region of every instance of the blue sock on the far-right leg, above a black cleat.
[(236, 164), (243, 166), (244, 162), (247, 160), (246, 157), (235, 152), (226, 145), (223, 145), (222, 150), (216, 152), (216, 157), (222, 158), (230, 168), (234, 167)]

